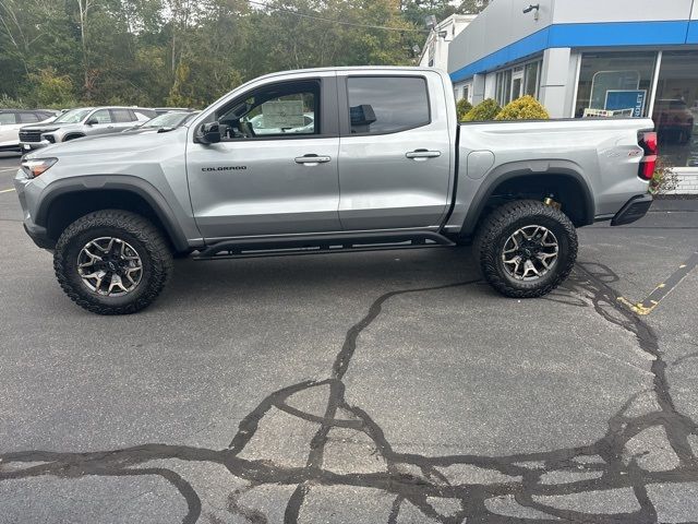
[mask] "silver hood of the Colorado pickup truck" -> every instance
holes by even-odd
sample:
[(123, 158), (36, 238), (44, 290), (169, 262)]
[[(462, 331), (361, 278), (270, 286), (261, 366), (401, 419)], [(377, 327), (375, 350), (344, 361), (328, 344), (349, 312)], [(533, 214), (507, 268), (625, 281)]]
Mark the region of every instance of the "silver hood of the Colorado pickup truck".
[[(166, 133), (115, 133), (85, 136), (77, 140), (49, 145), (25, 155), (26, 158), (68, 158), (99, 155), (103, 159), (113, 156), (115, 160), (127, 156), (137, 157), (164, 146), (179, 147), (186, 141), (186, 128), (178, 128)], [(182, 152), (183, 152), (182, 147)]]

